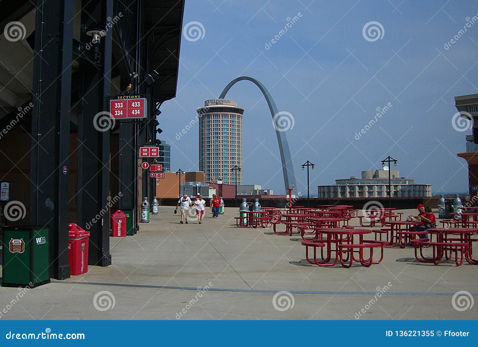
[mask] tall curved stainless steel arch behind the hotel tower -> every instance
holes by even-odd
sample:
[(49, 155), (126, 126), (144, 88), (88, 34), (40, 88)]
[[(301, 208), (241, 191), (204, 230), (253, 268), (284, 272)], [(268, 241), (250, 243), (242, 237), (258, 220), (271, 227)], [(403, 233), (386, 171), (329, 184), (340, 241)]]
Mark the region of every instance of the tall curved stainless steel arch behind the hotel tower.
[(229, 82), (226, 88), (224, 88), (224, 90), (222, 91), (221, 95), (219, 95), (219, 99), (224, 99), (229, 89), (231, 89), (231, 87), (234, 84), (236, 84), (236, 82), (243, 81), (243, 80), (251, 81), (256, 86), (259, 87), (262, 94), (264, 95), (264, 98), (266, 98), (267, 104), (269, 105), (269, 110), (271, 110), (272, 120), (275, 122), (274, 128), (275, 128), (275, 134), (277, 135), (277, 142), (279, 144), (279, 152), (281, 153), (282, 173), (284, 175), (285, 192), (287, 193), (287, 188), (292, 188), (292, 185), (295, 182), (294, 168), (292, 164), (291, 151), (289, 150), (289, 143), (287, 142), (287, 136), (285, 135), (283, 131), (278, 130), (278, 129), (281, 129), (281, 125), (278, 123), (279, 117), (274, 117), (278, 112), (277, 106), (275, 105), (275, 102), (272, 99), (272, 96), (269, 93), (269, 90), (267, 90), (266, 87), (264, 87), (264, 85), (261, 82), (259, 82), (257, 79), (249, 77), (249, 76), (241, 76), (238, 78), (234, 78), (232, 81)]

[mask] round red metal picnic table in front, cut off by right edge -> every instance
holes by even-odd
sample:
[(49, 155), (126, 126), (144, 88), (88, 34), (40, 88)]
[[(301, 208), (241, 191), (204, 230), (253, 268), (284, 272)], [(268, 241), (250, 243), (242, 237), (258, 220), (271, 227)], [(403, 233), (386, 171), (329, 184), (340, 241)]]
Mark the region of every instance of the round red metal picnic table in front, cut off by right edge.
[[(452, 253), (455, 253), (455, 264), (460, 266), (463, 264), (463, 257), (465, 260), (472, 264), (478, 265), (478, 260), (473, 258), (473, 242), (478, 239), (473, 239), (471, 235), (478, 233), (478, 229), (472, 228), (434, 228), (428, 229), (429, 233), (436, 234), (435, 242), (430, 240), (416, 240), (415, 246), (415, 258), (422, 263), (434, 263), (438, 265), (441, 263), (442, 258), (445, 256), (446, 260), (451, 259)], [(459, 236), (452, 237), (451, 235)], [(450, 237), (451, 236), (451, 237)], [(424, 257), (422, 248), (432, 247), (432, 257)], [(418, 257), (417, 251), (420, 251), (420, 257)]]

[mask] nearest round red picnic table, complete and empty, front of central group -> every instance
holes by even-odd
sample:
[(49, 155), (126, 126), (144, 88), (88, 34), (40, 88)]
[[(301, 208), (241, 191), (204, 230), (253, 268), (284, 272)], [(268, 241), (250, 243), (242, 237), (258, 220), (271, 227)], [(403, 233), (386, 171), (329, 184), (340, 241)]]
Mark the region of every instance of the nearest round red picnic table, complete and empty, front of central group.
[[(327, 235), (326, 239), (302, 241), (302, 245), (305, 246), (305, 257), (310, 264), (323, 267), (334, 266), (340, 260), (340, 264), (344, 268), (350, 268), (355, 260), (360, 262), (361, 265), (369, 267), (372, 264), (380, 263), (383, 259), (382, 243), (363, 239), (363, 235), (370, 234), (371, 230), (330, 228), (323, 229), (321, 232)], [(355, 235), (359, 235), (358, 243), (354, 243)], [(309, 258), (309, 247), (314, 249), (314, 258), (312, 260)], [(317, 247), (321, 248), (320, 260), (317, 258)], [(380, 247), (381, 256), (380, 260), (373, 261), (373, 249), (376, 247)], [(326, 252), (325, 257), (324, 248)], [(370, 256), (367, 259), (363, 257), (363, 250), (365, 248), (370, 250)], [(332, 260), (333, 252), (335, 253), (335, 258)], [(358, 258), (355, 257), (355, 253), (359, 254)]]

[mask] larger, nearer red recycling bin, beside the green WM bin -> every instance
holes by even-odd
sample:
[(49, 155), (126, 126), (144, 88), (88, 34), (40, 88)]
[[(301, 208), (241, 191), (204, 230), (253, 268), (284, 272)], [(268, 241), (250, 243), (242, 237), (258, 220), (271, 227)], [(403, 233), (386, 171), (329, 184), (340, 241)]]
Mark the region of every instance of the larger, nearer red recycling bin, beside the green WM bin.
[(88, 244), (90, 232), (75, 223), (68, 224), (68, 263), (70, 274), (88, 272)]

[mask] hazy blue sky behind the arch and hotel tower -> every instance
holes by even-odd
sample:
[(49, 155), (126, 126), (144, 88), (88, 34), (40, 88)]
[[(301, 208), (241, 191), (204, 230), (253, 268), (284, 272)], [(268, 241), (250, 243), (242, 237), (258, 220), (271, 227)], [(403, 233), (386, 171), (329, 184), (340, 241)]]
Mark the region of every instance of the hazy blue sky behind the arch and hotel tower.
[[(288, 17), (301, 17), (269, 49)], [(271, 92), (294, 125), (285, 132), (295, 169), (295, 193), (381, 168), (388, 155), (400, 175), (432, 184), (434, 192), (466, 191), (465, 135), (456, 131), (454, 97), (478, 93), (478, 1), (188, 0), (184, 26), (200, 22), (204, 37), (182, 37), (177, 97), (163, 104), (161, 139), (171, 143), (171, 169), (198, 169), (197, 124), (176, 140), (207, 99), (233, 78), (250, 76)], [(362, 34), (368, 22), (381, 39)], [(380, 29), (381, 31), (381, 29)], [(245, 109), (243, 183), (284, 193), (272, 117), (260, 90), (241, 81), (228, 98)], [(365, 134), (356, 134), (389, 110)]]

